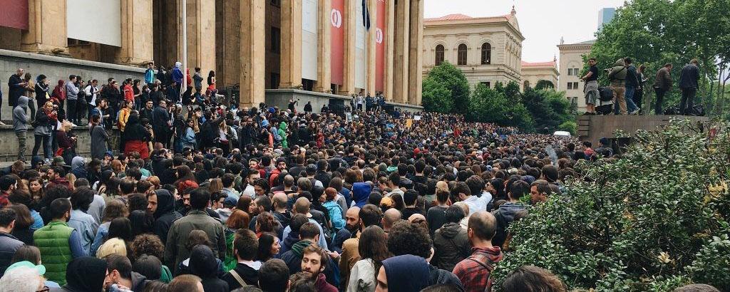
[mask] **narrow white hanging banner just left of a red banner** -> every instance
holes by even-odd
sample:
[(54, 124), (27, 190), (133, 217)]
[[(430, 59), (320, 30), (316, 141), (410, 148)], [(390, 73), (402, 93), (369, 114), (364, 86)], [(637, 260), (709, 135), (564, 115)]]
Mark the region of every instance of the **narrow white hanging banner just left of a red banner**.
[(317, 80), (317, 0), (301, 1), (301, 77)]

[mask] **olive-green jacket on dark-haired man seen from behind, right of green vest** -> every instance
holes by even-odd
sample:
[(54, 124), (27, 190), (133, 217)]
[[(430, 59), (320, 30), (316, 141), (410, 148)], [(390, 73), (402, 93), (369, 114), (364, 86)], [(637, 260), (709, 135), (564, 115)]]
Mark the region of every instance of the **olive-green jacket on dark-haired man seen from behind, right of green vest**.
[(177, 266), (180, 266), (181, 261), (190, 258), (190, 250), (185, 245), (188, 243), (188, 235), (193, 230), (205, 231), (213, 252), (218, 253), (221, 261), (226, 258), (226, 234), (223, 231), (223, 223), (210, 217), (204, 210), (191, 210), (187, 216), (175, 220), (167, 233), (164, 258), (165, 264), (175, 269), (172, 274), (177, 274)]

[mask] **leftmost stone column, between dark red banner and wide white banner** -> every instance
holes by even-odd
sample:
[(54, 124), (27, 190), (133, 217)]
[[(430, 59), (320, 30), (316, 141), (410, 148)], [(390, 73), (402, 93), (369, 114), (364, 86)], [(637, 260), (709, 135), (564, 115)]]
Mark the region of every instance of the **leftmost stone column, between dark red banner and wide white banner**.
[(20, 50), (45, 55), (69, 55), (66, 1), (28, 0), (28, 30)]

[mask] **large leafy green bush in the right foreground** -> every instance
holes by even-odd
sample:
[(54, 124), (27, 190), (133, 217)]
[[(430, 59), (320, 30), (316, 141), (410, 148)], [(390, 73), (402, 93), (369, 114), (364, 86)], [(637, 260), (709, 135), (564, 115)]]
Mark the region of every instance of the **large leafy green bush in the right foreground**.
[(730, 289), (730, 136), (688, 121), (638, 131), (616, 161), (582, 162), (561, 196), (510, 226), (499, 291), (519, 266), (550, 270), (570, 289), (672, 291), (687, 283)]

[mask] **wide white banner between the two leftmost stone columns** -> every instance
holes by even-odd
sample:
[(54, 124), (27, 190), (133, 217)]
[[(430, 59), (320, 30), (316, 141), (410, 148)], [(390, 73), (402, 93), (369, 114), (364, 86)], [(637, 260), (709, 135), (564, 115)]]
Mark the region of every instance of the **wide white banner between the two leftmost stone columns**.
[(122, 46), (120, 0), (66, 0), (66, 33), (80, 39)]

